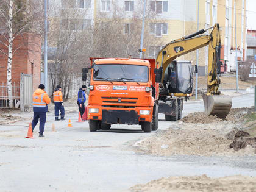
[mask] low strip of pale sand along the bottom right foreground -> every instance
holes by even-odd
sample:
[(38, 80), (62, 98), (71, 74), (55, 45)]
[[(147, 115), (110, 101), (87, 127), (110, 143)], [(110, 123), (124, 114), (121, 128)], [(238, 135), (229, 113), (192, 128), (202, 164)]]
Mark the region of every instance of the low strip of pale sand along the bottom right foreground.
[(256, 177), (227, 176), (210, 178), (202, 176), (162, 177), (146, 184), (135, 185), (130, 191), (227, 191), (255, 192)]

